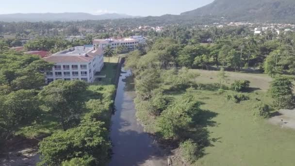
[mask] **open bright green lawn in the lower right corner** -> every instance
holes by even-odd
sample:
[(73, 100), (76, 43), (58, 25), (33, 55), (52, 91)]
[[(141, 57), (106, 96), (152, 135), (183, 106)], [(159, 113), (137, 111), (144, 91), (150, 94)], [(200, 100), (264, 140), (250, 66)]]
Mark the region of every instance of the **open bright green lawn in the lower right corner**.
[(266, 120), (254, 120), (252, 108), (271, 99), (262, 93), (249, 94), (250, 100), (236, 104), (223, 95), (196, 91), (202, 109), (217, 113), (208, 126), (212, 146), (205, 148), (196, 166), (294, 166), (295, 131), (273, 126)]

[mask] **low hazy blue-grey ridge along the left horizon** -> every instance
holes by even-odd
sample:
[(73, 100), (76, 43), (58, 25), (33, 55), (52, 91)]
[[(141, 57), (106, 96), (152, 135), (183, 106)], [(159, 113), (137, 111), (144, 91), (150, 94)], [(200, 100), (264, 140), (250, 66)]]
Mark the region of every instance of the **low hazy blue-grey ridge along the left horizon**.
[(139, 16), (128, 16), (124, 14), (103, 14), (91, 15), (88, 13), (29, 13), (29, 14), (5, 14), (0, 15), (0, 21), (76, 21), (76, 20), (102, 20), (102, 19), (120, 19), (135, 18)]

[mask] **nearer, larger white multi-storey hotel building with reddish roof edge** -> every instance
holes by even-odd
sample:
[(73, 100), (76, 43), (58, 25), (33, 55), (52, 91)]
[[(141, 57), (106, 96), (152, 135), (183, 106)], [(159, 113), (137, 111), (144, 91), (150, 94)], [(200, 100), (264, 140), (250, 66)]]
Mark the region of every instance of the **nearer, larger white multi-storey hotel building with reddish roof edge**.
[(54, 63), (46, 72), (46, 81), (83, 80), (93, 83), (95, 73), (103, 67), (103, 51), (90, 46), (78, 46), (52, 54), (43, 60)]

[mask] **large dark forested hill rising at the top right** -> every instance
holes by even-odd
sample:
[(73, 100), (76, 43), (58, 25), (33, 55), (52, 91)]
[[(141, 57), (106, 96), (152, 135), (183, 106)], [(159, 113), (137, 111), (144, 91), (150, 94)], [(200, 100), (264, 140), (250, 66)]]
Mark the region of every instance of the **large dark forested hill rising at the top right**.
[(214, 0), (180, 15), (225, 17), (233, 21), (295, 22), (295, 0)]

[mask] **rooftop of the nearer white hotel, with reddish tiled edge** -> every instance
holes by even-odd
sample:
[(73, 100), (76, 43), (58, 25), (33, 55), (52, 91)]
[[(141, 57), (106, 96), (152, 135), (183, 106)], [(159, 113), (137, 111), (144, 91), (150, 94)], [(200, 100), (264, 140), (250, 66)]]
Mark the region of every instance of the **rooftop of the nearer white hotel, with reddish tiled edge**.
[(53, 63), (90, 62), (94, 56), (101, 54), (103, 54), (101, 49), (93, 48), (92, 45), (86, 45), (62, 50), (43, 59)]

